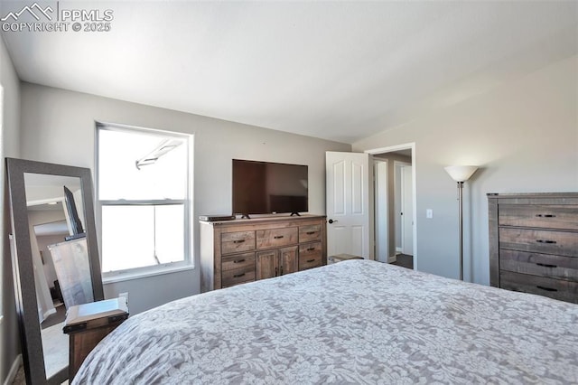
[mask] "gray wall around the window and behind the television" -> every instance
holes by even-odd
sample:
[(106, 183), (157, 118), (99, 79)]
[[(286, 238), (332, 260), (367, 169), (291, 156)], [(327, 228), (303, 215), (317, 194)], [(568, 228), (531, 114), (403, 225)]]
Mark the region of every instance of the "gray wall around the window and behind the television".
[[(231, 159), (309, 165), (309, 210), (325, 212), (325, 151), (351, 146), (251, 127), (169, 109), (22, 83), (23, 158), (74, 164), (94, 171), (95, 120), (194, 134), (194, 212), (231, 211)], [(193, 236), (198, 239), (196, 221)], [(194, 242), (199, 263), (199, 242)], [(131, 313), (200, 291), (199, 269), (143, 277), (105, 286), (105, 296), (129, 292)]]

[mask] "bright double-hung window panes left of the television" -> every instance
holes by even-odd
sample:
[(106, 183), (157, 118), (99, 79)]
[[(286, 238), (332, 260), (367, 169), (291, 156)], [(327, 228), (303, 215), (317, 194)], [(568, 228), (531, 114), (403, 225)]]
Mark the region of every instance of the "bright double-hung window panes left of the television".
[(104, 277), (191, 263), (191, 136), (97, 124)]

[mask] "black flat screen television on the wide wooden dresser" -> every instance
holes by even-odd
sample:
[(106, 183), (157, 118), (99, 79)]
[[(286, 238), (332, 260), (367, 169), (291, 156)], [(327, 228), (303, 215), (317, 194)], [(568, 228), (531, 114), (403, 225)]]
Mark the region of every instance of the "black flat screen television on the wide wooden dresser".
[(233, 159), (233, 214), (309, 210), (307, 165)]

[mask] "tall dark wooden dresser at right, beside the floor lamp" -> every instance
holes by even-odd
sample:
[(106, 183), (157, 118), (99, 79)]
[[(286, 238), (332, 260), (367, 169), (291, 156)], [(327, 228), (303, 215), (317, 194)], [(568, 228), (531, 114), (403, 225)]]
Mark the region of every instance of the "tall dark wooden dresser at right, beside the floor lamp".
[(488, 194), (489, 282), (578, 303), (578, 192)]

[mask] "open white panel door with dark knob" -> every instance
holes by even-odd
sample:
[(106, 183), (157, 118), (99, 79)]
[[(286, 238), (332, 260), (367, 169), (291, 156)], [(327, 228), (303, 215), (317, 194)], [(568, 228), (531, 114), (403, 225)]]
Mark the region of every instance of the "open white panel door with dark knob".
[(369, 155), (327, 152), (325, 155), (328, 256), (351, 254), (373, 258), (369, 248)]

